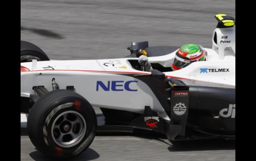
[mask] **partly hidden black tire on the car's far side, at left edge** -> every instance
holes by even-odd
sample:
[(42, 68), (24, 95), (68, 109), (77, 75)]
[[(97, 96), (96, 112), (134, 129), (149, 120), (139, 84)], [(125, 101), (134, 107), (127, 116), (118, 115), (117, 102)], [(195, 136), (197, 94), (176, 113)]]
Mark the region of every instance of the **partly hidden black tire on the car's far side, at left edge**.
[(20, 41), (20, 56), (21, 63), (31, 61), (32, 59), (37, 61), (50, 60), (41, 48), (27, 41)]

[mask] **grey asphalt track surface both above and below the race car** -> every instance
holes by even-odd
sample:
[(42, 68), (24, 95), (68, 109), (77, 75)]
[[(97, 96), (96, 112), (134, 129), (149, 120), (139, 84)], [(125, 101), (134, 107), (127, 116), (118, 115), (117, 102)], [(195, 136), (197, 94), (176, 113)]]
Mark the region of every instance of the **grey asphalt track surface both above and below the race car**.
[[(234, 0), (21, 0), (21, 40), (50, 59), (118, 58), (131, 41), (150, 46), (197, 43), (211, 48), (214, 15), (235, 17)], [(21, 129), (21, 160), (49, 160)], [(73, 160), (235, 160), (235, 141), (203, 140), (173, 146), (162, 134), (97, 134)]]

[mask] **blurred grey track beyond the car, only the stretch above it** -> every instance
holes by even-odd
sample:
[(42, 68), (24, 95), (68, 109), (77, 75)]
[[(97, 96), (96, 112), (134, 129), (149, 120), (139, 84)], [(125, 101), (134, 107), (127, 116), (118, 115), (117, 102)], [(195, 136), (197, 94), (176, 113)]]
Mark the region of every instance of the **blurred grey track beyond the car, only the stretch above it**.
[(21, 40), (60, 60), (97, 59), (100, 46), (124, 57), (131, 41), (211, 48), (219, 13), (235, 18), (235, 0), (21, 0)]

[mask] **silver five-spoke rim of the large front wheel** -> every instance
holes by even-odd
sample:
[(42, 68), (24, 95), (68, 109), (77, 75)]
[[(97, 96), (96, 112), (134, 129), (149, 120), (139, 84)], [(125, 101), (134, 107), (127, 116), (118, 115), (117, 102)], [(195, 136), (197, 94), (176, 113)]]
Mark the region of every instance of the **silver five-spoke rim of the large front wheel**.
[(54, 142), (61, 147), (78, 144), (85, 135), (86, 122), (76, 111), (66, 111), (53, 122), (51, 133)]

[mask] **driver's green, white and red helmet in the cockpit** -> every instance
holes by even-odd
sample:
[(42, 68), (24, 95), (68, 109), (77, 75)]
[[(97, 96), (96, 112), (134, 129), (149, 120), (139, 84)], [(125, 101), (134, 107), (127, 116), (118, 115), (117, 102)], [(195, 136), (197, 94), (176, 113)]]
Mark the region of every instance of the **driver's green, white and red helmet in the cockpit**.
[(202, 46), (197, 44), (185, 44), (175, 54), (175, 58), (172, 64), (173, 70), (182, 69), (192, 62), (204, 61), (206, 56), (206, 51)]

